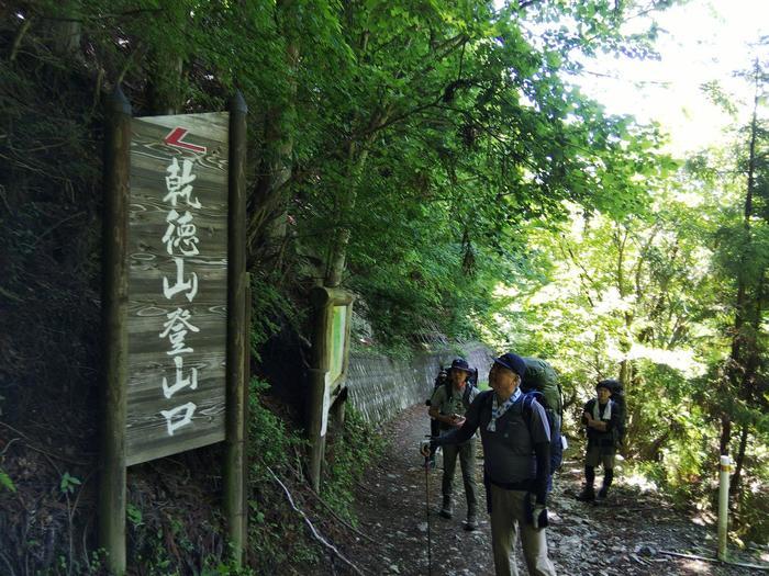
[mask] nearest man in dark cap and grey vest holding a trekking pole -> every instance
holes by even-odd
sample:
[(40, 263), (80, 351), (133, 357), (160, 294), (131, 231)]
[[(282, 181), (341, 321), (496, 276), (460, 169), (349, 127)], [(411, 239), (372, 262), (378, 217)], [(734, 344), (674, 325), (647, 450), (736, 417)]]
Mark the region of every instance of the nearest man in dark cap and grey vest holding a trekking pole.
[(492, 389), (478, 395), (461, 428), (431, 443), (461, 443), (480, 428), (497, 576), (517, 576), (512, 551), (519, 533), (528, 574), (555, 576), (545, 535), (549, 426), (538, 402), (524, 402), (519, 386), (525, 372), (520, 355), (506, 353), (495, 359), (489, 372)]

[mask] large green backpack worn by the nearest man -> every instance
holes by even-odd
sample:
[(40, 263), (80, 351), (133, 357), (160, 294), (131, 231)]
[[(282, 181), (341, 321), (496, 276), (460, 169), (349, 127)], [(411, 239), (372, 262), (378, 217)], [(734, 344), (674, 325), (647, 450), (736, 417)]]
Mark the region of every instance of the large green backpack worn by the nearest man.
[(547, 423), (550, 427), (550, 473), (560, 470), (564, 462), (564, 438), (560, 432), (564, 421), (564, 398), (558, 384), (558, 374), (545, 360), (524, 358), (526, 373), (523, 376), (521, 392), (523, 397), (523, 414), (531, 418), (532, 400), (536, 399), (545, 408)]

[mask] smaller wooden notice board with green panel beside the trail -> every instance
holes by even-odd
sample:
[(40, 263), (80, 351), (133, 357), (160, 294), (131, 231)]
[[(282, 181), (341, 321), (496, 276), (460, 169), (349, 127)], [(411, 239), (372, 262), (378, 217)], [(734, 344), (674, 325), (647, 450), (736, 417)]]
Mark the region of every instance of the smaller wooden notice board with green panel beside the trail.
[(341, 397), (349, 360), (349, 324), (353, 296), (337, 289), (314, 287), (310, 294), (315, 309), (308, 403), (310, 463), (313, 489), (321, 486), (326, 430), (331, 406)]

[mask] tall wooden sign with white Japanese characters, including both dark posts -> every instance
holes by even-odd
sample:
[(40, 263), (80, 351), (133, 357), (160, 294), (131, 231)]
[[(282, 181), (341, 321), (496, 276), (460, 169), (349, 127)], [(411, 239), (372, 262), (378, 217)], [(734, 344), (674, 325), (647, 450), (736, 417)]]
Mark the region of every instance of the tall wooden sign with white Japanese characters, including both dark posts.
[(237, 94), (231, 113), (132, 120), (118, 90), (110, 110), (101, 543), (112, 572), (124, 572), (125, 466), (226, 440), (226, 512), (239, 558), (245, 103)]

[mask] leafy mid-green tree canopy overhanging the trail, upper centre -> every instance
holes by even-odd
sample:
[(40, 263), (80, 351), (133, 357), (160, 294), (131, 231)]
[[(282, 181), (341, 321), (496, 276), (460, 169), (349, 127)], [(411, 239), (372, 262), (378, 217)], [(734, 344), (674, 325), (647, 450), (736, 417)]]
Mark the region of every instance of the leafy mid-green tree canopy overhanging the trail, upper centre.
[[(642, 210), (639, 177), (648, 184), (665, 169), (648, 154), (656, 128), (606, 116), (556, 74), (567, 55), (527, 39), (528, 13), (489, 8), (375, 2), (352, 7), (339, 26), (356, 60), (335, 70), (314, 117), (334, 161), (297, 182), (290, 210), (302, 251), (331, 255), (326, 272), (344, 252), (346, 283), (376, 302), (365, 312), (389, 347), (437, 326), (477, 337), (495, 283), (526, 273), (523, 222), (565, 217), (566, 199), (612, 214)], [(551, 22), (583, 18), (561, 4), (545, 10)], [(617, 10), (597, 3), (593, 13), (615, 23)], [(592, 47), (622, 36), (613, 25), (594, 33)]]

